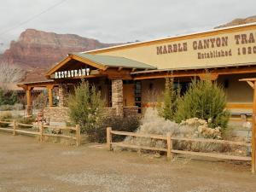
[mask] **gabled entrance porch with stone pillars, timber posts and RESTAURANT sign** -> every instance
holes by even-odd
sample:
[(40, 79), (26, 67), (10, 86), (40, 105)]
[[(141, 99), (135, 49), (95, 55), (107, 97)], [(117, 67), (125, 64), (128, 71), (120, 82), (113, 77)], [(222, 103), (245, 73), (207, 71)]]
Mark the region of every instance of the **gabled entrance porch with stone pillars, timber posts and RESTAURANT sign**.
[(18, 86), (26, 90), (27, 115), (32, 114), (32, 90), (43, 87), (48, 96), (44, 115), (49, 119), (67, 119), (67, 97), (85, 79), (101, 91), (106, 113), (126, 116), (141, 111), (141, 104), (135, 102), (141, 100), (138, 98), (141, 84), (132, 79), (131, 72), (146, 69), (154, 67), (123, 57), (74, 53), (50, 69), (45, 75), (47, 80), (23, 82)]

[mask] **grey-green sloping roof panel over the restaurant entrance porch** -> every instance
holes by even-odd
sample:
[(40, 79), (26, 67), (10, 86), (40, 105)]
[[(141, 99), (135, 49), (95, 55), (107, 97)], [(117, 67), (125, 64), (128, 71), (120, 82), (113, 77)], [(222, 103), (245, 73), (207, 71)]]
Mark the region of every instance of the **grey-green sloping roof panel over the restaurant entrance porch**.
[(156, 69), (156, 67), (148, 65), (143, 62), (134, 61), (125, 57), (109, 56), (109, 55), (92, 55), (85, 53), (72, 53), (84, 59), (94, 61), (104, 67), (124, 67), (124, 68), (137, 68), (137, 69)]

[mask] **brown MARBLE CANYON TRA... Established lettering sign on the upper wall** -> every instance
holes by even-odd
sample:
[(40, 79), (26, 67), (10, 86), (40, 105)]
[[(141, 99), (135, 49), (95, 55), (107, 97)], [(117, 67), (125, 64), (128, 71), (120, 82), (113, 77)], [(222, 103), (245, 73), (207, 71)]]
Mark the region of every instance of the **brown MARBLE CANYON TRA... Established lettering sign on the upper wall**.
[[(236, 45), (244, 45), (237, 47), (236, 51), (230, 49), (230, 38)], [(197, 51), (197, 59), (212, 59), (217, 57), (225, 57), (232, 55), (256, 55), (255, 43), (256, 33), (241, 33), (229, 36), (221, 36), (216, 38), (204, 38), (191, 42), (190, 48)], [(250, 46), (252, 44), (252, 46)], [(249, 45), (249, 46), (248, 46)], [(157, 55), (175, 54), (177, 52), (188, 51), (188, 42), (182, 44), (165, 44), (156, 47)]]

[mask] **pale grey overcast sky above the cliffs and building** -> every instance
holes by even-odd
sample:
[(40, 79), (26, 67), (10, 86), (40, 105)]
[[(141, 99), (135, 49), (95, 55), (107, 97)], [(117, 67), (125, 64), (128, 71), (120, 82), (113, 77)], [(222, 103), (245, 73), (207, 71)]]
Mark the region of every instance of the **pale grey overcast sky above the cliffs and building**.
[(0, 52), (27, 28), (103, 43), (164, 38), (256, 15), (256, 0), (0, 0)]

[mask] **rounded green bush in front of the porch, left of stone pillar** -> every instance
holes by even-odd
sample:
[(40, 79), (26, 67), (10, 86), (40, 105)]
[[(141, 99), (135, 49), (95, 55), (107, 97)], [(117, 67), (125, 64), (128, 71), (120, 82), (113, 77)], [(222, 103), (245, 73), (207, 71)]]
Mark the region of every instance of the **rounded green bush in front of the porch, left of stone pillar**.
[(68, 97), (70, 119), (80, 125), (82, 132), (93, 135), (101, 124), (104, 103), (101, 92), (96, 91), (95, 86), (90, 87), (88, 81), (82, 80), (74, 94)]

